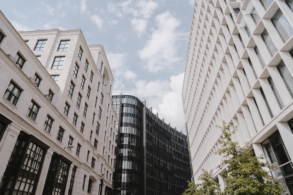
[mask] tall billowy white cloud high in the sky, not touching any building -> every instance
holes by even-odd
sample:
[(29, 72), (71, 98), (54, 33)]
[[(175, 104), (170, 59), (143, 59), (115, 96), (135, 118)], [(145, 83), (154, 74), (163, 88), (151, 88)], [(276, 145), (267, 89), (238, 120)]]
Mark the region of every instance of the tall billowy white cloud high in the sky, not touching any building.
[(182, 33), (176, 31), (180, 25), (179, 20), (166, 11), (156, 17), (156, 23), (157, 29), (153, 31), (144, 48), (138, 51), (149, 72), (170, 68), (172, 63), (179, 61), (176, 55), (179, 47), (177, 42), (182, 36)]

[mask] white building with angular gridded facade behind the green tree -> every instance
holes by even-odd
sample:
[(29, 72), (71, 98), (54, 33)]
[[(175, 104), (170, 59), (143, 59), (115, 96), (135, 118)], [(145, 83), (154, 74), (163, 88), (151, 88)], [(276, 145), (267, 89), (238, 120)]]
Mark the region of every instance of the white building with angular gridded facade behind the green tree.
[[(293, 194), (293, 1), (196, 0), (183, 83), (193, 181), (215, 169), (225, 120), (233, 139), (256, 155)], [(222, 170), (214, 170), (224, 188)]]

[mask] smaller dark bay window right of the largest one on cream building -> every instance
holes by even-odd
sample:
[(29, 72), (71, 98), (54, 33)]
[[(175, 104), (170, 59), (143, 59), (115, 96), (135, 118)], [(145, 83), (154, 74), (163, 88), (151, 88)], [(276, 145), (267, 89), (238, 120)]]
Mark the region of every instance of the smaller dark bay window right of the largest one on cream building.
[(71, 162), (62, 155), (53, 153), (43, 195), (64, 194)]

